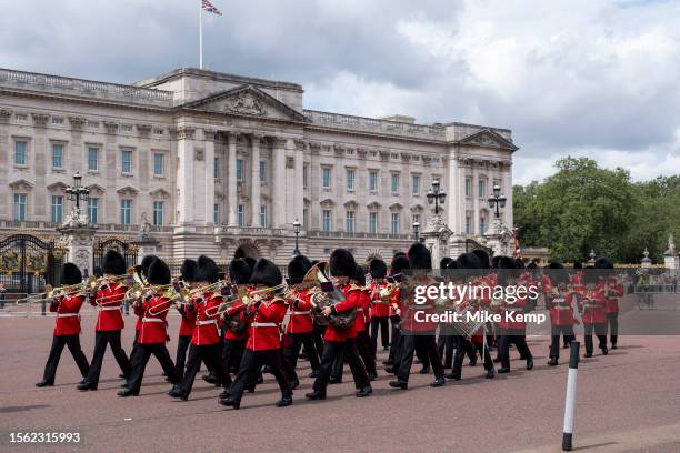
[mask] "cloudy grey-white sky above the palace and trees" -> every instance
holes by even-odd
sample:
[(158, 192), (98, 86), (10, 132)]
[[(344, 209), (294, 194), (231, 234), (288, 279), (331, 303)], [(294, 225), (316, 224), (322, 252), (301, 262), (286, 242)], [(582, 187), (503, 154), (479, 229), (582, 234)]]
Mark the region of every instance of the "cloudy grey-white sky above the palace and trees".
[[(306, 107), (513, 130), (514, 178), (589, 155), (680, 173), (680, 1), (212, 0), (209, 69)], [(0, 0), (0, 67), (132, 82), (198, 66), (200, 0)]]

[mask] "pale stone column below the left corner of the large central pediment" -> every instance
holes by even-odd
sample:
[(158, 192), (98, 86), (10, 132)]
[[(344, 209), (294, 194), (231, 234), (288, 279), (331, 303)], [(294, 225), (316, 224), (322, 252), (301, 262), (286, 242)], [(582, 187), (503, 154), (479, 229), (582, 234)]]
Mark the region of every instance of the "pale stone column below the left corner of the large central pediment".
[(196, 133), (194, 128), (180, 127), (178, 129), (178, 142), (177, 142), (177, 189), (178, 189), (178, 218), (177, 225), (178, 232), (193, 232), (196, 226), (193, 224), (193, 137)]

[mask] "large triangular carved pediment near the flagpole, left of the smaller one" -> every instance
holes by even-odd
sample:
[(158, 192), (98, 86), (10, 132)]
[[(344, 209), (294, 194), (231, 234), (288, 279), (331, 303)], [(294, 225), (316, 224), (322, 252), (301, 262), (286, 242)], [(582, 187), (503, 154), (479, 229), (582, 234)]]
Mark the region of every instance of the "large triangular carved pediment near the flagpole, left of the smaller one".
[(181, 105), (182, 109), (268, 118), (287, 121), (309, 119), (296, 109), (252, 85), (237, 87)]

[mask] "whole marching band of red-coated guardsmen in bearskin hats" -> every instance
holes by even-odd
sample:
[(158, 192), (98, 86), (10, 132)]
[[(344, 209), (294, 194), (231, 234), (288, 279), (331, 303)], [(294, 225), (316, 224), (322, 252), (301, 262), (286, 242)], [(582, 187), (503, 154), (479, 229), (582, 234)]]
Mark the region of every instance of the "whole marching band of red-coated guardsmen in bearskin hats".
[[(491, 260), (483, 251), (444, 259), (440, 268), (441, 275), (459, 285), (536, 284), (550, 314), (550, 366), (559, 364), (560, 336), (570, 344), (576, 338), (574, 325), (581, 322), (586, 358), (593, 354), (593, 332), (603, 355), (609, 352), (608, 330), (611, 348), (617, 348), (618, 299), (623, 290), (612, 263), (604, 258), (584, 271), (579, 266), (571, 275), (560, 263), (551, 263), (541, 275), (537, 269), (524, 269), (520, 260)], [(588, 272), (589, 268), (599, 273)], [(204, 363), (209, 374), (203, 379), (222, 387), (219, 404), (238, 410), (244, 393), (256, 391), (266, 371), (273, 374), (281, 391), (276, 406), (288, 406), (300, 384), (301, 352), (311, 366), (309, 378), (314, 379), (307, 399), (324, 400), (328, 385), (340, 382), (344, 363), (351, 370), (357, 397), (366, 397), (371, 395), (371, 382), (378, 376), (379, 333), (383, 351), (389, 350), (388, 360), (382, 362), (384, 371), (394, 376), (389, 385), (399, 390), (408, 389), (414, 358), (422, 364), (421, 373), (433, 373), (433, 387), (444, 385), (447, 380), (460, 380), (466, 356), (474, 365), (479, 355), (487, 379), (510, 372), (511, 344), (526, 361), (527, 370), (533, 369), (527, 323), (521, 316), (514, 321), (513, 316), (499, 318), (502, 321), (498, 323), (468, 320), (453, 326), (432, 322), (431, 316), (422, 321), (423, 313), (442, 310), (457, 314), (523, 314), (536, 309), (536, 301), (519, 296), (509, 304), (494, 296), (459, 293), (454, 305), (437, 298), (414, 303), (407, 280), (426, 286), (441, 281), (432, 272), (430, 251), (420, 242), (408, 253), (394, 254), (390, 265), (380, 259), (358, 265), (346, 249), (336, 249), (328, 262), (311, 262), (298, 255), (288, 264), (287, 279), (267, 259), (256, 262), (234, 256), (228, 272), (220, 274), (217, 263), (201, 255), (196, 261), (186, 260), (180, 276), (173, 281), (170, 268), (160, 258), (146, 256), (141, 265), (126, 269), (123, 256), (116, 251), (107, 252), (101, 271), (100, 276), (83, 280), (74, 264), (66, 263), (62, 286), (50, 288), (46, 294), (57, 318), (43, 378), (37, 386), (54, 384), (67, 345), (83, 376), (77, 389), (97, 390), (110, 345), (124, 379), (118, 392), (121, 397), (139, 395), (146, 366), (153, 355), (172, 384), (168, 395), (174, 399), (189, 399)], [(79, 340), (79, 312), (86, 301), (98, 312), (91, 362)], [(126, 301), (138, 316), (130, 358), (121, 345), (121, 306)], [(174, 310), (181, 320), (173, 361), (167, 348), (167, 318)], [(493, 348), (496, 360), (490, 353)], [(500, 363), (498, 370), (494, 361)], [(451, 373), (446, 373), (444, 366), (451, 368)]]

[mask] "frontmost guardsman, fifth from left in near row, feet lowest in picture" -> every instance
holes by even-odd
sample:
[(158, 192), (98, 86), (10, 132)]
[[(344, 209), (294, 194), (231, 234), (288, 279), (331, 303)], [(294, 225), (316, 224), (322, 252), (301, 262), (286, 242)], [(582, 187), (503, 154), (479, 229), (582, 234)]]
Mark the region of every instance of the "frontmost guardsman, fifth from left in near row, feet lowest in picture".
[(249, 334), (246, 352), (239, 368), (239, 374), (229, 387), (228, 394), (218, 402), (226, 406), (239, 409), (241, 397), (248, 384), (257, 379), (262, 365), (269, 365), (281, 390), (277, 407), (292, 404), (292, 390), (283, 368), (281, 355), (280, 329), (288, 306), (278, 295), (282, 292), (283, 276), (279, 266), (269, 260), (260, 259), (250, 278), (254, 290), (249, 295), (242, 316), (249, 320)]

